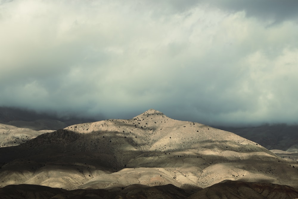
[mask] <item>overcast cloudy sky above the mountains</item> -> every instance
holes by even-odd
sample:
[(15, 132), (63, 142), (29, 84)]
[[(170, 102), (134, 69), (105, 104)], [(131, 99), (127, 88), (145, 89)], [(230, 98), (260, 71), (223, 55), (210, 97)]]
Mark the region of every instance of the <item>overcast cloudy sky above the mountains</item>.
[(296, 123), (296, 0), (0, 0), (0, 106)]

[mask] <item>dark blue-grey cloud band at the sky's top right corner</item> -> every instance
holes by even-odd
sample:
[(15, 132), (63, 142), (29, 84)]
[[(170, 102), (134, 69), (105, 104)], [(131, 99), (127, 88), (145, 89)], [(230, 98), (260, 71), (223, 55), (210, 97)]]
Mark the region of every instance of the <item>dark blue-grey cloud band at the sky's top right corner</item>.
[[(256, 17), (264, 21), (271, 21), (271, 24), (278, 24), (282, 21), (294, 20), (297, 22), (298, 2), (296, 0), (191, 0), (191, 1), (162, 1), (158, 6), (161, 10), (172, 12), (184, 12), (195, 6), (215, 7), (223, 11), (239, 12), (245, 11), (247, 17)], [(156, 2), (154, 2), (156, 4)]]

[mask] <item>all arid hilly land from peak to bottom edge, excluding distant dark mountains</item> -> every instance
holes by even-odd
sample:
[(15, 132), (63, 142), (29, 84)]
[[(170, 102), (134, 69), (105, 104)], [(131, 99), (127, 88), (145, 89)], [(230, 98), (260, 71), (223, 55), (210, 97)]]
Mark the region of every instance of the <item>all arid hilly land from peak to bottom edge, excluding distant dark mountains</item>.
[(0, 125), (0, 198), (298, 198), (296, 151), (154, 109), (48, 132)]

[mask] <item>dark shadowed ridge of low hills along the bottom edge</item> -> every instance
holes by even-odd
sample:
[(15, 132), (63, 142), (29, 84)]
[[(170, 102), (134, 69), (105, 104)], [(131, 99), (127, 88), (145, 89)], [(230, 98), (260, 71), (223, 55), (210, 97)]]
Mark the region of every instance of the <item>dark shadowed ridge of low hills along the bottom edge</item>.
[(8, 185), (0, 188), (1, 199), (120, 199), (120, 198), (163, 198), (163, 199), (292, 199), (298, 197), (298, 191), (285, 185), (272, 183), (251, 183), (241, 181), (223, 181), (205, 189), (184, 190), (172, 184), (145, 186), (133, 184), (121, 189), (76, 189), (65, 190), (40, 185)]

